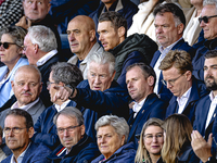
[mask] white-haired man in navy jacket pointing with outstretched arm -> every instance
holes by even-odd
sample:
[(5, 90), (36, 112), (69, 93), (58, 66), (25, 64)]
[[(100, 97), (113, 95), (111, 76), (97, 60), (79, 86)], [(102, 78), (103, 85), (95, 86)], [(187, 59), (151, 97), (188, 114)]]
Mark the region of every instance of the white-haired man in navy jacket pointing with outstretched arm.
[(110, 52), (98, 52), (90, 55), (88, 63), (88, 79), (77, 88), (60, 87), (53, 97), (74, 100), (84, 113), (86, 133), (95, 139), (94, 124), (103, 115), (115, 114), (128, 120), (129, 95), (114, 79), (115, 58)]

